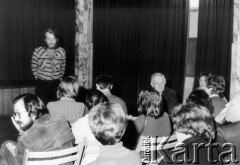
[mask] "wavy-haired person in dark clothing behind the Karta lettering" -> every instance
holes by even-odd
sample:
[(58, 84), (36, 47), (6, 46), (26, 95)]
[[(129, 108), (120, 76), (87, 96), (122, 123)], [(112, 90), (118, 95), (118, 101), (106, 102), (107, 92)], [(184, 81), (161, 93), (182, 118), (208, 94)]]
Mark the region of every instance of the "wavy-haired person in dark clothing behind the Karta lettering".
[[(222, 164), (218, 149), (209, 149), (215, 138), (215, 127), (214, 120), (205, 107), (196, 104), (179, 106), (174, 111), (172, 120), (179, 148), (169, 152), (162, 150), (164, 157), (160, 165)], [(213, 163), (214, 161), (217, 162)]]

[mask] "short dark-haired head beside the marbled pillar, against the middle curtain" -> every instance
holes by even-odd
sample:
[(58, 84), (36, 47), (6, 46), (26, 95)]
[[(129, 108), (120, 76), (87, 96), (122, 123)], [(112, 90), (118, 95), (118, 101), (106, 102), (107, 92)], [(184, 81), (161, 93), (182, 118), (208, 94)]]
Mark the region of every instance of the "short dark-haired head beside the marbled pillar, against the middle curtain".
[(113, 85), (113, 77), (107, 74), (101, 74), (95, 79), (95, 84), (99, 85), (100, 89), (111, 89)]

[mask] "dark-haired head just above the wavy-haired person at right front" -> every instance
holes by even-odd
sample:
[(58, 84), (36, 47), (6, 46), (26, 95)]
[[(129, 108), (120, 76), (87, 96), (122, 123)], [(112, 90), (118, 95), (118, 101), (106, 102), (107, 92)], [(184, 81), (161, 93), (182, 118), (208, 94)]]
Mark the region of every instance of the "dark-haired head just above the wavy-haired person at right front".
[(209, 95), (202, 89), (196, 89), (192, 91), (188, 96), (186, 102), (195, 103), (197, 105), (204, 106), (209, 110), (210, 114), (213, 113), (213, 106), (211, 103), (211, 99)]

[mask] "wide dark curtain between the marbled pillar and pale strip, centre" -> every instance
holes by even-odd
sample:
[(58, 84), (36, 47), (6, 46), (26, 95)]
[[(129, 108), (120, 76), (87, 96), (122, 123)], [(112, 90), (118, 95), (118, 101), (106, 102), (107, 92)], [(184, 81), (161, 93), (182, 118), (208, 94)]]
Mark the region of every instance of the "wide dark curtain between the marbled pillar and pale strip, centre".
[(134, 105), (151, 74), (161, 72), (182, 96), (187, 0), (96, 0), (93, 10), (93, 78), (112, 75)]

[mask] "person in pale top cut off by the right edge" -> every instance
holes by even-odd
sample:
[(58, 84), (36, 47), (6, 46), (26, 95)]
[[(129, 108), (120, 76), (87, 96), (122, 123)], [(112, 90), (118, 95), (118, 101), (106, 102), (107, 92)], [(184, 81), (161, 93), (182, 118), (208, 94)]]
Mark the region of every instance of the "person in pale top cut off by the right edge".
[(226, 108), (215, 117), (215, 121), (222, 125), (217, 129), (218, 136), (235, 145), (236, 158), (240, 160), (240, 92), (233, 95)]

